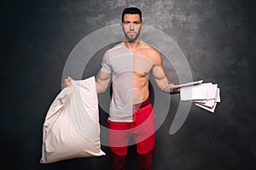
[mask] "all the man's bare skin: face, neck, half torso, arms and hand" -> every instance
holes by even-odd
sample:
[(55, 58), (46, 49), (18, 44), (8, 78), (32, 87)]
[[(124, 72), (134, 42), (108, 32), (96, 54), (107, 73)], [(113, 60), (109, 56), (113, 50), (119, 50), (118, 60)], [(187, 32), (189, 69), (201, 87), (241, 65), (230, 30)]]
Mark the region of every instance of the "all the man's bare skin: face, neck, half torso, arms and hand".
[[(162, 58), (157, 50), (142, 42), (139, 33), (143, 28), (143, 23), (139, 14), (125, 14), (121, 28), (125, 34), (123, 44), (134, 54), (133, 71), (133, 104), (142, 103), (149, 96), (148, 77), (151, 73), (158, 87), (166, 92), (172, 91), (173, 83), (169, 83), (166, 72), (163, 69)], [(64, 87), (71, 86), (71, 77), (67, 77)], [(96, 80), (97, 94), (106, 92), (111, 73), (100, 71)], [(177, 93), (179, 89), (174, 89)]]

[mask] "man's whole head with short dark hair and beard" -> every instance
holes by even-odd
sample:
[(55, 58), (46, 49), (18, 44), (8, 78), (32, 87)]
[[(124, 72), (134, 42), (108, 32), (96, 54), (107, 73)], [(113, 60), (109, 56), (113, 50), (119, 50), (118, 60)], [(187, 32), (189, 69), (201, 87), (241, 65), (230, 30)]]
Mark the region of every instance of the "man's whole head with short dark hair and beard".
[(142, 21), (142, 12), (139, 8), (131, 7), (124, 9), (121, 26), (127, 41), (137, 41), (143, 27)]

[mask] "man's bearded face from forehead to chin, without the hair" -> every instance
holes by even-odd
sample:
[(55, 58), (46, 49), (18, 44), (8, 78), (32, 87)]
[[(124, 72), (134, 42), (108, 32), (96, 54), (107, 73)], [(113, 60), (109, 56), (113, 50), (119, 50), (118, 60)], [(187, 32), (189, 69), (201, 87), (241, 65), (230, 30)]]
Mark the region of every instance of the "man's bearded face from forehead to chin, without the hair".
[(143, 23), (141, 22), (139, 14), (125, 14), (121, 26), (125, 34), (125, 39), (130, 42), (135, 42), (140, 36)]

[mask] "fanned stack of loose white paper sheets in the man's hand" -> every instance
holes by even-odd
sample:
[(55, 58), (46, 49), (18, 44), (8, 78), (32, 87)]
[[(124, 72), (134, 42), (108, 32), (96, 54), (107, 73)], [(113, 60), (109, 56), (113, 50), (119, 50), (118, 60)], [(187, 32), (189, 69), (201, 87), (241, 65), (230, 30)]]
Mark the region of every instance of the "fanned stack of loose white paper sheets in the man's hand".
[(213, 113), (217, 103), (220, 102), (220, 89), (218, 84), (201, 82), (177, 85), (177, 88), (180, 88), (180, 98), (181, 100), (192, 100), (195, 105)]

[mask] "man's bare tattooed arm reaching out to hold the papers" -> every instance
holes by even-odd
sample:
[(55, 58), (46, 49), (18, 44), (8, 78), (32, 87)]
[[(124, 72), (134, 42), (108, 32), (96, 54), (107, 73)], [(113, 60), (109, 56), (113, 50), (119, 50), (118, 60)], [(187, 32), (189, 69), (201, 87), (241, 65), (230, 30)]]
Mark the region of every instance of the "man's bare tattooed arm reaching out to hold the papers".
[(166, 77), (166, 71), (163, 68), (162, 58), (158, 52), (155, 53), (154, 59), (155, 65), (152, 69), (152, 75), (157, 86), (160, 88), (160, 90), (167, 94), (178, 94), (180, 89), (172, 88), (174, 84), (169, 82), (168, 78)]

